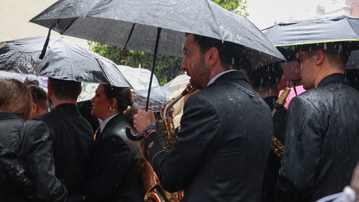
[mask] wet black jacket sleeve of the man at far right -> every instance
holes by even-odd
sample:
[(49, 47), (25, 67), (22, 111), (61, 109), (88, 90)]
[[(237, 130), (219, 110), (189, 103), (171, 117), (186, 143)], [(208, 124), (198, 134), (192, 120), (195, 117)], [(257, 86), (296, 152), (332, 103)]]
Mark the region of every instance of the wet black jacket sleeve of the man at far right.
[(300, 96), (290, 101), (276, 201), (303, 202), (312, 195), (322, 151), (322, 123), (311, 101)]

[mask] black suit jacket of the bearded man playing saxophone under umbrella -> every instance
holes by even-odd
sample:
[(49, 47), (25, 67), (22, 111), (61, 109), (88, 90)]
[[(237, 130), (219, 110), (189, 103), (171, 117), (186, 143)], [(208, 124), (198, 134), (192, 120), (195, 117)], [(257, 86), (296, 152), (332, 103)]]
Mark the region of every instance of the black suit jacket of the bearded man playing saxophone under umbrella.
[[(254, 96), (219, 81), (239, 84)], [(145, 153), (163, 188), (185, 189), (182, 202), (260, 201), (272, 117), (244, 75), (221, 75), (189, 97), (183, 111), (171, 152), (155, 133), (145, 141)]]

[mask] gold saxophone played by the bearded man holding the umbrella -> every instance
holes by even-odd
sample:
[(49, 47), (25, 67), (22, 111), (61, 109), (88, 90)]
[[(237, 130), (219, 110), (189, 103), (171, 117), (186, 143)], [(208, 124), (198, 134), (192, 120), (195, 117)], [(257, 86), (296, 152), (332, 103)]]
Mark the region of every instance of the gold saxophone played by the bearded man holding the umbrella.
[[(194, 84), (187, 84), (186, 89), (181, 93), (181, 95), (177, 96), (176, 98), (172, 98), (166, 102), (161, 109), (161, 117), (162, 117), (162, 125), (164, 130), (164, 141), (168, 151), (171, 151), (173, 148), (174, 142), (176, 142), (176, 131), (174, 129), (173, 120), (169, 117), (169, 110), (172, 108), (178, 100), (180, 100), (183, 96), (187, 95), (188, 93), (192, 93), (197, 88)], [(145, 194), (144, 200), (145, 201), (152, 201), (152, 202), (180, 202), (183, 198), (183, 190), (169, 193), (164, 190), (161, 186), (161, 183), (158, 182), (153, 187), (151, 187), (148, 192)]]

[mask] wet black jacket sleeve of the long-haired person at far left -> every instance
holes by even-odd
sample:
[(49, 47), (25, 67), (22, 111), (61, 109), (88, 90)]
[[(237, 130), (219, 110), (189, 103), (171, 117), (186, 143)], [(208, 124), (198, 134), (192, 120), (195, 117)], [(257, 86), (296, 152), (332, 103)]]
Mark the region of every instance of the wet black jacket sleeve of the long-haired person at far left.
[[(60, 202), (67, 198), (67, 190), (55, 176), (52, 139), (42, 121), (27, 120), (22, 145), (29, 171), (36, 183), (36, 197), (43, 201)], [(23, 144), (24, 143), (24, 144)]]

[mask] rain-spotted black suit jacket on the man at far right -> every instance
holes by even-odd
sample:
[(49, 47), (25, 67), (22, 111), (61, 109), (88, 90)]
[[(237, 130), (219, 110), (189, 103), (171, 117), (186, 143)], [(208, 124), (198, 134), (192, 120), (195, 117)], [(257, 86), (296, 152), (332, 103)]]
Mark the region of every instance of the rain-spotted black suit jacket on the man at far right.
[(359, 92), (331, 74), (288, 107), (276, 201), (317, 201), (349, 185), (359, 161)]

